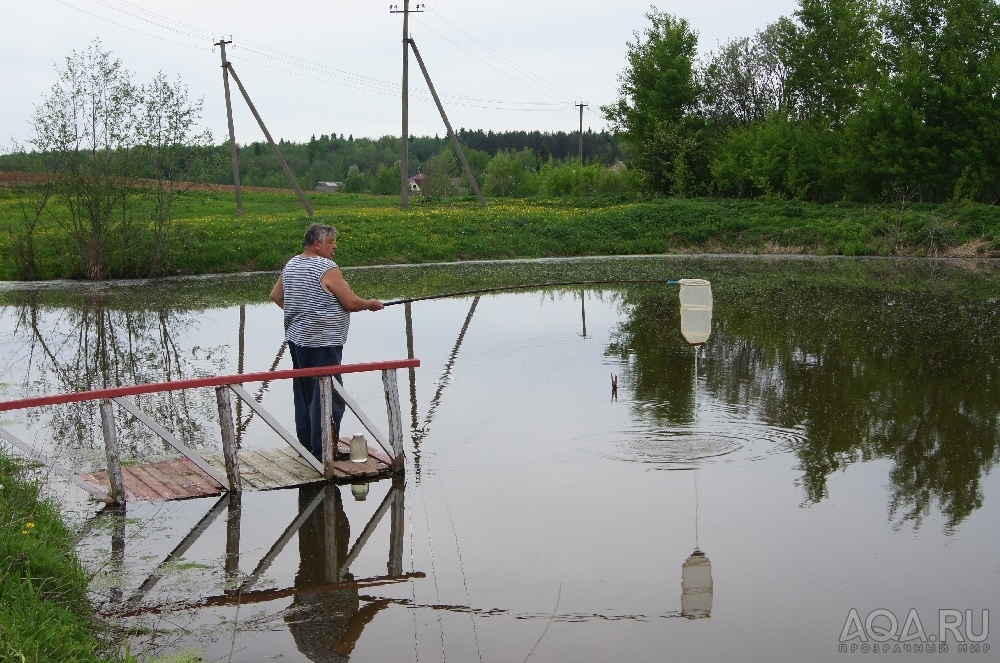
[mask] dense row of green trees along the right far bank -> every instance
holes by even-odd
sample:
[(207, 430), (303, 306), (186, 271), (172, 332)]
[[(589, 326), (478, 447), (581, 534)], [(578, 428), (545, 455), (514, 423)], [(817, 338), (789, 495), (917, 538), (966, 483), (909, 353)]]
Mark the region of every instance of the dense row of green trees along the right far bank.
[(1000, 4), (800, 0), (697, 56), (655, 7), (602, 107), (651, 189), (831, 202), (1000, 197)]

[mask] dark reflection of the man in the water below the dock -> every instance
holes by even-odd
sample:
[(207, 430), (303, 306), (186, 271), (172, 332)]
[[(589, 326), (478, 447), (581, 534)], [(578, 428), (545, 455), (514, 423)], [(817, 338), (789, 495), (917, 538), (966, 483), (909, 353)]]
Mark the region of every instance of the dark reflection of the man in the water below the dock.
[[(347, 573), (338, 578), (347, 558), (351, 526), (335, 484), (299, 488), (299, 511), (326, 495), (299, 528), (299, 571), (292, 608), (285, 620), (295, 646), (310, 660), (347, 661), (365, 624), (387, 605), (374, 601), (360, 608), (358, 588)], [(360, 609), (359, 609), (360, 608)]]

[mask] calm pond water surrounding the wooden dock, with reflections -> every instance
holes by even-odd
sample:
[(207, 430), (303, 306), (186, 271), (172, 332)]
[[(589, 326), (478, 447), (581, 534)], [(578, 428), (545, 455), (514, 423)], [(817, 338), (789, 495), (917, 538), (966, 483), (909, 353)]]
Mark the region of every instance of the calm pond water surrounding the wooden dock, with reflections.
[[(405, 477), (365, 499), (347, 485), (246, 491), (90, 517), (55, 484), (94, 603), (136, 629), (133, 651), (798, 662), (869, 660), (888, 644), (883, 660), (996, 660), (997, 263), (669, 257), (347, 275), (384, 300), (620, 282), (355, 314), (345, 362), (421, 360), (399, 372)], [(637, 282), (683, 277), (712, 284), (697, 352), (677, 286)], [(274, 278), (8, 284), (4, 398), (290, 368)], [(379, 375), (345, 383), (385, 430)], [(287, 382), (248, 388), (290, 427)], [(218, 450), (211, 389), (142, 405)], [(92, 471), (96, 410), (0, 425)], [(248, 410), (237, 423), (244, 447), (281, 444)], [(129, 460), (167, 455), (121, 424)], [(361, 432), (350, 415), (344, 432)], [(893, 621), (902, 637), (881, 642)]]

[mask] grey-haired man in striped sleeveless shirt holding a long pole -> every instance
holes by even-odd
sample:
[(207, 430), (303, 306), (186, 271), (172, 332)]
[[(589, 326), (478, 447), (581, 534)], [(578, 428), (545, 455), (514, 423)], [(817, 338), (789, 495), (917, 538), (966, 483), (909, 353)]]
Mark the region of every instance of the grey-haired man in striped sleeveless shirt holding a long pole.
[[(285, 312), (285, 340), (293, 368), (340, 365), (347, 331), (354, 311), (380, 311), (382, 302), (354, 294), (333, 261), (337, 250), (337, 230), (314, 223), (302, 239), (305, 249), (285, 265), (271, 289), (271, 301)], [(334, 376), (341, 384), (339, 375)], [(317, 459), (323, 459), (323, 417), (319, 381), (293, 378), (295, 432), (299, 443)], [(339, 439), (345, 404), (333, 397), (334, 439)]]

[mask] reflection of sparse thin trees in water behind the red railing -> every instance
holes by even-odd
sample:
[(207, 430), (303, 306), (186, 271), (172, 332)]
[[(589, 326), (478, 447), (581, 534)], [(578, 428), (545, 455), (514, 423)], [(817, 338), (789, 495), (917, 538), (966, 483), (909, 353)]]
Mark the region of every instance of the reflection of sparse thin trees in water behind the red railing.
[[(46, 305), (43, 295), (25, 291), (15, 304), (17, 325), (11, 341), (15, 352), (25, 357), (19, 369), (25, 396), (178, 380), (225, 363), (217, 349), (201, 350), (199, 357), (198, 348), (179, 347), (177, 337), (194, 323), (192, 313), (141, 298), (148, 308), (116, 306), (107, 290), (88, 289), (71, 305), (58, 307)], [(209, 390), (164, 392), (142, 397), (142, 407), (182, 442), (200, 447), (205, 422), (213, 421), (214, 399)], [(28, 416), (44, 418), (59, 448), (92, 450), (103, 444), (93, 403), (29, 410)], [(119, 421), (126, 452), (164, 449), (138, 421)]]

